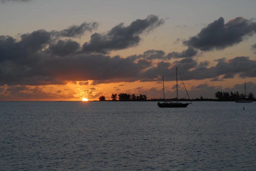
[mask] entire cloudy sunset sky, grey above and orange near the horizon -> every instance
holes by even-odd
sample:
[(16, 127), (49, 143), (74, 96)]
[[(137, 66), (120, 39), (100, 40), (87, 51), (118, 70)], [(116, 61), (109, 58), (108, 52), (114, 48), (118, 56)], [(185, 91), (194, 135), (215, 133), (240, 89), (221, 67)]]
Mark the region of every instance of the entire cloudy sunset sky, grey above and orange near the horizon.
[[(0, 100), (256, 94), (256, 1), (0, 0)], [(178, 77), (179, 98), (186, 97)], [(247, 92), (247, 91), (246, 91)]]

